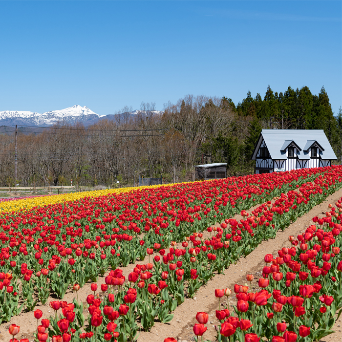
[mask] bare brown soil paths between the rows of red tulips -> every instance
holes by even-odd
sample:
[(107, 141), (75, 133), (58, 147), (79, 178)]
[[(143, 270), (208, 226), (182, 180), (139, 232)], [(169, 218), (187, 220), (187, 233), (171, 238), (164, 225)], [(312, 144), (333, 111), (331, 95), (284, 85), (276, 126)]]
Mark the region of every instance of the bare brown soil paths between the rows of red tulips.
[[(275, 239), (263, 241), (250, 255), (246, 258), (241, 258), (235, 265), (232, 264), (228, 270), (224, 271), (224, 274), (216, 274), (206, 286), (201, 287), (197, 295), (193, 299), (185, 299), (184, 303), (176, 308), (173, 312), (174, 317), (170, 323), (163, 324), (156, 322), (150, 332), (141, 332), (138, 338), (138, 342), (163, 342), (166, 337), (177, 338), (178, 341), (194, 341), (192, 326), (195, 321), (195, 315), (198, 311), (205, 311), (209, 313), (209, 322), (207, 324), (208, 330), (204, 334), (205, 340), (215, 341), (216, 331), (214, 328), (218, 321), (215, 317), (215, 310), (217, 309), (217, 299), (214, 296), (215, 288), (233, 289), (235, 283), (244, 284), (246, 282), (246, 275), (253, 274), (255, 281), (252, 283), (252, 288), (257, 289), (257, 279), (261, 277), (261, 269), (264, 266), (265, 254), (275, 255), (282, 247), (290, 247), (288, 241), (289, 235), (297, 236), (299, 233), (305, 231), (305, 229), (312, 224), (312, 217), (325, 214), (328, 210), (327, 204), (334, 204), (338, 199), (342, 197), (342, 189), (330, 195), (323, 203), (314, 207), (308, 214), (299, 217), (296, 222), (291, 224), (284, 232), (278, 232)], [(249, 213), (253, 211), (259, 205), (251, 208)], [(237, 220), (241, 219), (241, 215), (235, 215)], [(204, 232), (204, 236), (209, 233)], [(139, 264), (146, 263), (144, 261), (137, 261)], [(128, 274), (133, 271), (134, 265), (130, 264), (123, 269), (124, 276), (128, 278)], [(106, 274), (107, 275), (107, 274)], [(106, 276), (105, 275), (105, 276)], [(105, 282), (104, 277), (100, 277), (97, 285), (100, 296), (101, 284)], [(90, 283), (85, 284), (83, 288), (78, 291), (79, 301), (86, 306), (86, 297), (91, 294)], [(76, 298), (76, 293), (68, 290), (64, 296), (65, 301), (72, 302)], [(230, 306), (235, 303), (234, 296), (229, 297)], [(54, 297), (49, 297), (45, 305), (41, 303), (37, 304), (35, 309), (43, 311), (43, 317), (47, 318), (54, 315), (54, 311), (50, 308), (49, 302), (56, 300)], [(86, 310), (84, 312), (86, 316)], [(8, 342), (11, 339), (11, 335), (8, 333), (8, 327), (10, 324), (20, 325), (20, 333), (16, 336), (18, 340), (22, 338), (28, 338), (33, 341), (33, 332), (37, 329), (37, 320), (34, 318), (33, 312), (21, 312), (20, 315), (13, 317), (9, 322), (2, 323), (0, 325), (0, 342)], [(336, 322), (333, 330), (336, 333), (324, 338), (324, 342), (342, 342), (341, 334), (341, 318)]]

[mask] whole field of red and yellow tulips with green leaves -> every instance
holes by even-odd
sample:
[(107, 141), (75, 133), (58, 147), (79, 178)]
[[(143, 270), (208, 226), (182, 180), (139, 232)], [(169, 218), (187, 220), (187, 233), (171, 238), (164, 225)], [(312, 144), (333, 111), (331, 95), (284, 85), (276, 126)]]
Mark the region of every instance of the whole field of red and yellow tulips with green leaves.
[[(341, 188), (342, 167), (333, 166), (0, 202), (0, 322), (32, 311), (36, 341), (136, 341)], [(342, 306), (341, 203), (291, 237), (293, 248), (265, 256), (258, 293), (235, 285), (236, 307), (222, 309), (231, 291), (213, 289), (218, 341), (313, 341), (330, 333)], [(82, 302), (86, 283), (91, 293)], [(63, 300), (68, 291), (73, 302)], [(38, 308), (44, 304), (49, 317)], [(208, 317), (196, 319), (202, 339)], [(20, 326), (8, 331), (18, 341)]]

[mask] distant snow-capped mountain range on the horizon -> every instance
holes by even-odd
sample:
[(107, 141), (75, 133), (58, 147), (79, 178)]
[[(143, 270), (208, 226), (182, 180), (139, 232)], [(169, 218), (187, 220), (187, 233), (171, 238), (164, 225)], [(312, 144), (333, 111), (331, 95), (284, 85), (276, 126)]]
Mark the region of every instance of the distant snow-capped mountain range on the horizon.
[[(134, 118), (139, 113), (144, 113), (141, 110), (134, 110), (122, 114), (99, 115), (93, 112), (88, 107), (79, 105), (68, 107), (61, 110), (52, 110), (41, 113), (31, 111), (4, 110), (0, 111), (0, 126), (43, 126), (49, 127), (57, 122), (64, 121), (69, 124), (76, 122), (83, 123), (85, 126), (93, 125), (101, 119), (115, 120), (128, 115), (128, 118)], [(163, 114), (161, 110), (152, 111), (154, 115)]]

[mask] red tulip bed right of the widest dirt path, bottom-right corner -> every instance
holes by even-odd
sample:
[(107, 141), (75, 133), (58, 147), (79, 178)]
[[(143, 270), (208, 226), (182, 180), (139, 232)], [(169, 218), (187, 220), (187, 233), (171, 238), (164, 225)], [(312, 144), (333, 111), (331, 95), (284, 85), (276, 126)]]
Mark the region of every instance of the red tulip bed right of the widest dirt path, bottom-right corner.
[[(235, 315), (229, 308), (216, 310), (217, 340), (255, 342), (318, 341), (333, 332), (342, 308), (342, 199), (329, 205), (325, 217), (314, 217), (297, 239), (290, 236), (292, 248), (282, 248), (278, 256), (266, 255), (258, 279), (259, 292), (250, 292), (247, 284), (235, 285)], [(247, 275), (247, 281), (253, 281)], [(221, 298), (230, 290), (215, 290)], [(203, 336), (208, 314), (197, 313), (194, 334)]]

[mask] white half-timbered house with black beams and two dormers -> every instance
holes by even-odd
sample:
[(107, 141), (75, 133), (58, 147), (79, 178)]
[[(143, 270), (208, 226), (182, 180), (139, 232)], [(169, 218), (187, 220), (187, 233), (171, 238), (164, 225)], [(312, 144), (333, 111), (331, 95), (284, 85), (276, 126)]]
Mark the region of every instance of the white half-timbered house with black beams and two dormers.
[(336, 159), (323, 129), (263, 129), (252, 155), (256, 173), (319, 168)]

